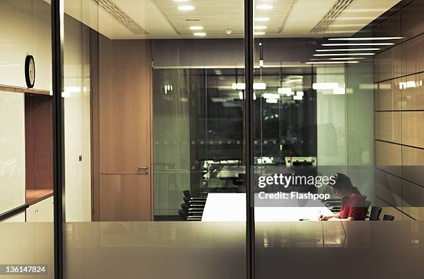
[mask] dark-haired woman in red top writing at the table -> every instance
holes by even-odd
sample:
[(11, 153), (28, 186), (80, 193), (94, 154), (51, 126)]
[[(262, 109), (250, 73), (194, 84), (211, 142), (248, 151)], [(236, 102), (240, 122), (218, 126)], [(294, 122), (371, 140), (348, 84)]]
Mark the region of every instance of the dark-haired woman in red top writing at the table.
[(331, 185), (333, 194), (342, 199), (340, 213), (331, 216), (320, 216), (320, 221), (357, 221), (366, 216), (365, 202), (357, 188), (353, 187), (351, 179), (342, 173), (337, 173), (335, 183)]

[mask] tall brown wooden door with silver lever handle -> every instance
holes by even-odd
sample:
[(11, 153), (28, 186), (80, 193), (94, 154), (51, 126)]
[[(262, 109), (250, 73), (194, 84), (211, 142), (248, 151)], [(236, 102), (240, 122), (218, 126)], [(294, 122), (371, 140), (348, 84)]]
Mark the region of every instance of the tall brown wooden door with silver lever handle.
[(147, 64), (132, 65), (126, 64), (132, 60), (114, 59), (113, 64), (105, 66), (100, 61), (98, 69), (98, 218), (149, 221), (151, 69)]

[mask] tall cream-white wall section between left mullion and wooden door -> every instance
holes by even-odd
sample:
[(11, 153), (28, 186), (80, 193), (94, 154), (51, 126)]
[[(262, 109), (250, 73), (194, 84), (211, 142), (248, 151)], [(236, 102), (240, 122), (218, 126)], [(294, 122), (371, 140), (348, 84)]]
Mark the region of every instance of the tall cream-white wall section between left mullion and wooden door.
[[(89, 33), (64, 21), (64, 145), (67, 222), (91, 221)], [(82, 161), (79, 161), (82, 156)]]

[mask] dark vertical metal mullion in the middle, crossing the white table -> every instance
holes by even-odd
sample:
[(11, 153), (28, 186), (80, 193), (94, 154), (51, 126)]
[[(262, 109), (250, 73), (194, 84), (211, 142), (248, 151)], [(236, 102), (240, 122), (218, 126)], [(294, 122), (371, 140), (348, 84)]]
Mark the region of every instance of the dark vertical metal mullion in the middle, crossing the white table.
[(247, 278), (255, 278), (254, 220), (254, 0), (245, 0), (245, 166)]

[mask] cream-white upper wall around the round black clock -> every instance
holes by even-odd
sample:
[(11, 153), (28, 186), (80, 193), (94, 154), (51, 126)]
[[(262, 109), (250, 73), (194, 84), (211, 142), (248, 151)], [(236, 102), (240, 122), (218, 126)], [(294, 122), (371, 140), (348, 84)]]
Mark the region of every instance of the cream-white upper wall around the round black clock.
[(26, 55), (35, 60), (36, 89), (51, 89), (50, 5), (42, 0), (0, 1), (0, 84), (26, 87)]

